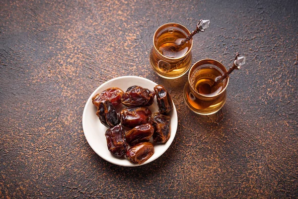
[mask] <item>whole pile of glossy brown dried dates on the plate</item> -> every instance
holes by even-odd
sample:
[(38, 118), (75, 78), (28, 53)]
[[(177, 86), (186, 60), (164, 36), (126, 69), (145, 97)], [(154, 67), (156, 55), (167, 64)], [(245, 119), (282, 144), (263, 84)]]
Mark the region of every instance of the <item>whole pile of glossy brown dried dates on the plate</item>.
[[(152, 113), (148, 106), (155, 95), (159, 112)], [(132, 86), (126, 92), (109, 88), (95, 95), (92, 103), (97, 107), (100, 122), (108, 127), (107, 146), (115, 156), (126, 156), (130, 162), (142, 164), (154, 153), (151, 137), (156, 144), (165, 143), (170, 137), (167, 113), (173, 109), (173, 102), (162, 85), (155, 86), (154, 91), (140, 86)], [(117, 113), (115, 107), (121, 103), (126, 108)]]

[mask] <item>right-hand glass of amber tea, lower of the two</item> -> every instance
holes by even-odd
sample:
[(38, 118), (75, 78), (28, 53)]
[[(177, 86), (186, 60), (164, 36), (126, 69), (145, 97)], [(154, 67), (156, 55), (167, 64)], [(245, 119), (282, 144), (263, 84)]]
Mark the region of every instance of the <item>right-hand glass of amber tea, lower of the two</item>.
[(210, 115), (223, 107), (229, 77), (214, 84), (226, 72), (224, 65), (213, 59), (200, 60), (191, 67), (183, 93), (184, 100), (192, 111)]

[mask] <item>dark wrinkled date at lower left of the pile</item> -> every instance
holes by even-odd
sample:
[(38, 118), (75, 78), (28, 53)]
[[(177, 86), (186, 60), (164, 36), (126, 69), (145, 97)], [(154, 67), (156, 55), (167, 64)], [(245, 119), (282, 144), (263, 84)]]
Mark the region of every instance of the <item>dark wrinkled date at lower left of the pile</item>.
[(105, 133), (109, 151), (115, 156), (122, 157), (127, 152), (128, 144), (125, 131), (121, 124), (109, 128)]

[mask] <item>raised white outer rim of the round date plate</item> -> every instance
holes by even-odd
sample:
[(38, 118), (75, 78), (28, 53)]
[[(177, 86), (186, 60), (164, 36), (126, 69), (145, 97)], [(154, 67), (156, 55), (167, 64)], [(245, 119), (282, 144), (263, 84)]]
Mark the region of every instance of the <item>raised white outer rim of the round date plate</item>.
[[(96, 92), (101, 88), (101, 87), (104, 87), (105, 85), (107, 85), (107, 84), (109, 84), (110, 82), (112, 82), (112, 81), (115, 81), (115, 80), (118, 80), (118, 79), (124, 79), (124, 78), (136, 78), (136, 79), (140, 79), (140, 80), (145, 80), (145, 81), (149, 81), (149, 82), (152, 82), (153, 84), (155, 84), (155, 85), (158, 85), (157, 83), (155, 83), (155, 82), (153, 82), (153, 81), (151, 81), (151, 80), (149, 80), (149, 79), (147, 79), (147, 78), (143, 78), (143, 77), (139, 77), (139, 76), (120, 76), (120, 77), (116, 77), (116, 78), (113, 78), (113, 79), (110, 79), (110, 80), (108, 80), (108, 81), (106, 81), (106, 82), (104, 82), (104, 83), (102, 83), (101, 85), (99, 85), (93, 92), (92, 92), (92, 94), (90, 95), (90, 97), (88, 98), (88, 100), (86, 101), (86, 103), (85, 103), (85, 105), (84, 105), (84, 109), (83, 109), (83, 114), (82, 114), (82, 127), (83, 127), (83, 132), (84, 132), (84, 136), (85, 136), (85, 139), (87, 140), (87, 143), (89, 144), (89, 146), (91, 147), (91, 149), (100, 157), (100, 158), (102, 158), (102, 159), (104, 159), (105, 161), (107, 161), (107, 162), (109, 162), (109, 163), (111, 163), (111, 164), (114, 164), (114, 165), (118, 165), (118, 166), (122, 166), (122, 167), (137, 167), (137, 166), (142, 166), (142, 165), (146, 165), (146, 164), (148, 164), (148, 163), (150, 163), (150, 162), (153, 162), (154, 160), (156, 160), (157, 158), (159, 158), (160, 156), (162, 156), (166, 151), (167, 151), (167, 149), (171, 146), (171, 144), (172, 144), (172, 142), (173, 142), (173, 140), (174, 140), (174, 138), (175, 138), (175, 136), (176, 136), (176, 132), (177, 132), (177, 127), (178, 127), (178, 115), (177, 115), (177, 110), (176, 110), (176, 106), (175, 106), (175, 104), (174, 104), (174, 102), (173, 102), (173, 100), (172, 100), (172, 102), (173, 102), (173, 110), (172, 111), (174, 111), (173, 113), (174, 113), (174, 116), (176, 116), (176, 118), (177, 118), (177, 122), (174, 124), (174, 129), (172, 129), (171, 128), (171, 135), (170, 135), (170, 137), (171, 136), (173, 136), (171, 139), (169, 139), (167, 142), (170, 142), (169, 143), (169, 145), (168, 145), (168, 147), (166, 147), (165, 149), (164, 149), (164, 151), (158, 156), (158, 157), (156, 157), (155, 159), (152, 159), (152, 160), (150, 160), (150, 161), (146, 161), (146, 162), (144, 162), (143, 164), (141, 164), (141, 165), (139, 165), (139, 164), (133, 164), (132, 163), (132, 165), (122, 165), (122, 164), (117, 164), (117, 163), (115, 163), (115, 162), (111, 162), (111, 161), (109, 161), (109, 159), (108, 158), (105, 158), (104, 156), (102, 156), (102, 155), (100, 155), (99, 153), (97, 153), (96, 151), (97, 150), (95, 150), (91, 145), (90, 145), (90, 143), (89, 143), (89, 141), (88, 141), (88, 135), (86, 134), (86, 132), (85, 132), (85, 129), (87, 128), (87, 127), (84, 127), (86, 124), (84, 124), (85, 122), (84, 122), (84, 118), (86, 118), (86, 114), (87, 114), (87, 104), (88, 103), (90, 103), (90, 101), (92, 100), (92, 97), (96, 94)], [(174, 130), (174, 131), (173, 131)], [(91, 139), (91, 138), (89, 138), (89, 139)], [(166, 142), (166, 143), (167, 143)]]

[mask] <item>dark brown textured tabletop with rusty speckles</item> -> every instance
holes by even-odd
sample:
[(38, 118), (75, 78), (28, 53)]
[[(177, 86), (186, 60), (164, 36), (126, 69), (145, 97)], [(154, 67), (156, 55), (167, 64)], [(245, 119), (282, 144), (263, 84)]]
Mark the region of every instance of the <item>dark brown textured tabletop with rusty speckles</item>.
[[(0, 198), (295, 198), (298, 196), (297, 0), (0, 0)], [(247, 65), (212, 116), (183, 101), (187, 75), (149, 65), (158, 26), (210, 28), (193, 63)], [(170, 148), (137, 168), (97, 156), (82, 130), (90, 94), (135, 75), (169, 89), (178, 111)]]

